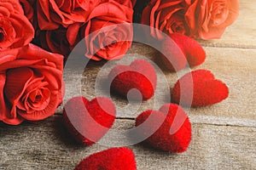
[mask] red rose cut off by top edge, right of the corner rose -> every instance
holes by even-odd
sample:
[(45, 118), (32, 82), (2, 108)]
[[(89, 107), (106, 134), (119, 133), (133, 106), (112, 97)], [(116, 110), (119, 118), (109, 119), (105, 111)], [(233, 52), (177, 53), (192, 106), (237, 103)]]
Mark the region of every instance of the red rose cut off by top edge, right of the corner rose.
[(41, 30), (55, 30), (73, 23), (84, 23), (100, 0), (38, 0), (38, 25)]

